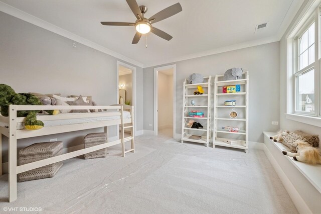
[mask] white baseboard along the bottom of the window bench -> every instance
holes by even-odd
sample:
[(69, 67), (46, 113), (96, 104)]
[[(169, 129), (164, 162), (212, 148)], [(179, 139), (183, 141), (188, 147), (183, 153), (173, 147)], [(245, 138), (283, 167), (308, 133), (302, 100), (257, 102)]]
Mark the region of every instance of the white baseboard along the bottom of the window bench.
[(265, 144), (263, 144), (264, 152), (269, 159), (270, 163), (272, 164), (274, 170), (276, 171), (277, 175), (279, 176), (283, 186), (285, 187), (286, 191), (289, 193), (295, 207), (299, 211), (299, 213), (312, 213), (309, 207), (306, 205), (305, 201), (301, 197), (301, 195), (297, 192), (296, 188), (293, 186), (291, 181), (288, 179), (280, 165), (277, 163), (275, 158), (273, 157), (272, 153), (268, 150)]

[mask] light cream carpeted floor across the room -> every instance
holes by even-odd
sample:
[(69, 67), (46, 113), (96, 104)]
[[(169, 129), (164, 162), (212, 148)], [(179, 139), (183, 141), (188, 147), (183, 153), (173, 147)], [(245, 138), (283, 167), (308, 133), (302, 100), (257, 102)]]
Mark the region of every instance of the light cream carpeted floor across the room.
[(137, 137), (135, 149), (125, 158), (117, 145), (106, 158), (64, 161), (53, 178), (18, 183), (12, 203), (3, 175), (0, 213), (298, 213), (261, 150), (181, 144), (162, 134)]

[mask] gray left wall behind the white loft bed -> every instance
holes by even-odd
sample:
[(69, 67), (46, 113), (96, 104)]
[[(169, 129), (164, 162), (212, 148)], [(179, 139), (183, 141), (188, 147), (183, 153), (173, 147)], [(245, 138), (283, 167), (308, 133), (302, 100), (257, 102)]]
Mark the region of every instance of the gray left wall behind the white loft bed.
[[(117, 103), (117, 58), (79, 43), (73, 47), (74, 41), (70, 39), (2, 12), (0, 29), (0, 83), (12, 86), (18, 93), (92, 95), (99, 105)], [(143, 74), (140, 67), (136, 67), (136, 78), (137, 94), (142, 94)], [(137, 96), (137, 130), (143, 127), (142, 102), (143, 97)], [(111, 136), (115, 136), (116, 129), (111, 130)], [(82, 143), (82, 137), (94, 131), (101, 129), (21, 140), (19, 148), (57, 137), (64, 141), (64, 147), (70, 147)], [(6, 160), (7, 139), (3, 139)]]

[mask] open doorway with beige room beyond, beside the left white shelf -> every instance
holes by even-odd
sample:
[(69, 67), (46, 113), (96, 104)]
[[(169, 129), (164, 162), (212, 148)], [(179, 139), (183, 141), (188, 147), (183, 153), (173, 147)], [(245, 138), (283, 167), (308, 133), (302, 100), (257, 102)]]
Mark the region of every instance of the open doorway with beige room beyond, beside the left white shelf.
[(175, 138), (176, 65), (154, 69), (154, 134)]

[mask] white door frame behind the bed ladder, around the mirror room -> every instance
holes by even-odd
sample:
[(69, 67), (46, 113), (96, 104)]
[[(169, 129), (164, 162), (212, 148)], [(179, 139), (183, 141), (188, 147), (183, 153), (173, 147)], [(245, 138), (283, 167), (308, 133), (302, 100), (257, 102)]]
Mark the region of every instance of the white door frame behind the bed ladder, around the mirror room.
[[(116, 75), (116, 82), (117, 82), (117, 92), (116, 92), (116, 103), (119, 104), (119, 90), (118, 90), (118, 85), (119, 85), (119, 66), (123, 66), (123, 67), (126, 67), (128, 69), (131, 70), (131, 77), (132, 77), (132, 95), (131, 97), (133, 97), (133, 99), (131, 100), (131, 105), (134, 106), (134, 115), (136, 115), (136, 112), (137, 112), (137, 108), (136, 108), (136, 67), (134, 66), (131, 66), (131, 65), (128, 65), (124, 62), (121, 62), (121, 61), (118, 61), (117, 60), (117, 75)], [(135, 129), (135, 133), (137, 133), (137, 126), (136, 126), (136, 118), (137, 117), (134, 117), (134, 129)], [(117, 139), (119, 139), (119, 127), (117, 127)]]

